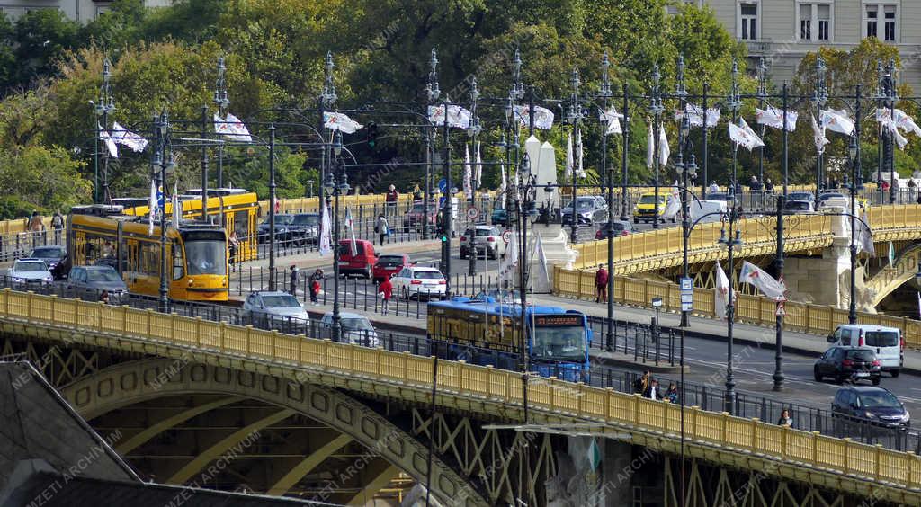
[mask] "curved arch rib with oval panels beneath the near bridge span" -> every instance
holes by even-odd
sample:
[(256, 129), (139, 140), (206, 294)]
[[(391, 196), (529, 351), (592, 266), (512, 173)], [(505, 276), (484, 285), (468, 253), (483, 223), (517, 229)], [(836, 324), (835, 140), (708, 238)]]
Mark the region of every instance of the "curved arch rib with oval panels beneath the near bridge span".
[[(319, 421), (377, 452), (417, 482), (426, 483), (426, 445), (355, 398), (272, 374), (180, 361), (156, 358), (119, 363), (64, 386), (62, 394), (87, 421), (111, 410), (169, 396), (253, 398)], [(439, 501), (471, 507), (488, 504), (437, 455), (432, 458), (431, 484)]]

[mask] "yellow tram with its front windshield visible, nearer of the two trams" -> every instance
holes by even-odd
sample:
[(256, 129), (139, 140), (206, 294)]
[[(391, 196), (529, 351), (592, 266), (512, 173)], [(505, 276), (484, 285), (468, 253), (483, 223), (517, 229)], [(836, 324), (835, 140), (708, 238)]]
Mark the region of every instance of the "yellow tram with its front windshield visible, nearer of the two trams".
[[(110, 214), (108, 206), (76, 206), (67, 216), (67, 256), (74, 266), (106, 264), (135, 294), (158, 295), (160, 228), (136, 216)], [(209, 213), (210, 214), (210, 213)], [(169, 297), (227, 301), (227, 232), (220, 225), (182, 221), (168, 226)]]

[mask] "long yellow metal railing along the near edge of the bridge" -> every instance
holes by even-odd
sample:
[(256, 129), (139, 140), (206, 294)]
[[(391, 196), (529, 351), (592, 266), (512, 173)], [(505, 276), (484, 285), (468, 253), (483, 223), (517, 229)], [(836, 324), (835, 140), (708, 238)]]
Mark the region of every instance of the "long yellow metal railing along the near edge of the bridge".
[[(0, 316), (33, 325), (60, 327), (68, 333), (102, 333), (130, 340), (179, 349), (271, 361), (284, 367), (306, 368), (348, 375), (376, 384), (409, 386), (429, 392), (437, 388), (461, 398), (484, 399), (504, 406), (520, 407), (523, 402), (521, 375), (488, 366), (439, 361), (408, 352), (391, 352), (356, 345), (313, 340), (253, 328), (227, 326), (200, 318), (177, 317), (126, 306), (110, 306), (66, 300), (54, 296), (0, 293)], [(637, 432), (676, 436), (682, 424), (682, 407), (571, 384), (553, 378), (531, 378), (528, 387), (530, 409), (557, 416), (600, 421), (626, 426)], [(884, 482), (900, 489), (921, 488), (921, 457), (881, 446), (856, 444), (848, 440), (776, 426), (757, 419), (732, 417), (727, 413), (683, 410), (684, 436), (689, 444), (729, 452), (775, 459), (797, 467), (831, 472), (847, 477)], [(720, 452), (720, 451), (717, 451)]]

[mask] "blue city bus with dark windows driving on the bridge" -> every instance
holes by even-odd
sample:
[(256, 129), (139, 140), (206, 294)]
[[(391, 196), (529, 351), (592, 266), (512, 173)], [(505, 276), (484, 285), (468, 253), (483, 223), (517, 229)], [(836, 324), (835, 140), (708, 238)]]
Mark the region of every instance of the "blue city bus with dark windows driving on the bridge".
[[(558, 306), (524, 306), (530, 371), (572, 382), (589, 382), (588, 318)], [(520, 369), (521, 305), (491, 297), (454, 297), (428, 304), (432, 353), (450, 360)]]

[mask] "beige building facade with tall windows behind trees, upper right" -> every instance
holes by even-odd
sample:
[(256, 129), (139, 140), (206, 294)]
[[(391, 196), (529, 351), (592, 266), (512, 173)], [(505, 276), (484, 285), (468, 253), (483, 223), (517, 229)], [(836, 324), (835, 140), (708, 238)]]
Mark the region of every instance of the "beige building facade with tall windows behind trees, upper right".
[(921, 93), (921, 0), (691, 1), (711, 6), (750, 57), (764, 56), (775, 84), (790, 81), (807, 52), (847, 51), (876, 37), (899, 48), (900, 81)]

